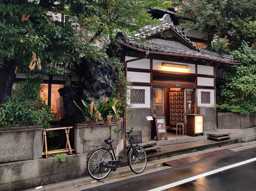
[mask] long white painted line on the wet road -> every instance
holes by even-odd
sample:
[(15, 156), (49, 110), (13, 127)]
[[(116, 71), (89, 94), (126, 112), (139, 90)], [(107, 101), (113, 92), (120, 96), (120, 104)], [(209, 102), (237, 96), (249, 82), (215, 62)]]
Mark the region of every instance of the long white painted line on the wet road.
[(199, 174), (199, 175), (196, 175), (196, 176), (192, 176), (190, 178), (186, 178), (184, 180), (180, 180), (180, 181), (177, 181), (175, 183), (171, 183), (171, 184), (168, 184), (168, 185), (165, 185), (165, 186), (161, 186), (161, 187), (158, 187), (158, 188), (154, 188), (152, 190), (148, 190), (148, 191), (160, 191), (160, 190), (165, 190), (165, 189), (168, 189), (168, 188), (171, 188), (171, 187), (174, 187), (174, 186), (178, 186), (178, 185), (181, 185), (181, 184), (184, 184), (184, 183), (187, 183), (187, 182), (190, 182), (190, 181), (193, 181), (193, 180), (196, 180), (198, 178), (202, 178), (204, 176), (209, 176), (211, 174), (215, 174), (217, 172), (221, 172), (221, 171), (224, 171), (224, 170), (227, 170), (227, 169), (231, 169), (231, 168), (234, 168), (234, 167), (238, 167), (242, 164), (246, 164), (246, 163), (249, 163), (249, 162), (253, 162), (255, 161), (256, 158), (252, 158), (252, 159), (248, 159), (248, 160), (245, 160), (245, 161), (242, 161), (242, 162), (238, 162), (238, 163), (235, 163), (235, 164), (231, 164), (229, 166), (226, 166), (226, 167), (222, 167), (222, 168), (219, 168), (219, 169), (215, 169), (215, 170), (212, 170), (212, 171), (209, 171), (209, 172), (205, 172), (203, 174)]

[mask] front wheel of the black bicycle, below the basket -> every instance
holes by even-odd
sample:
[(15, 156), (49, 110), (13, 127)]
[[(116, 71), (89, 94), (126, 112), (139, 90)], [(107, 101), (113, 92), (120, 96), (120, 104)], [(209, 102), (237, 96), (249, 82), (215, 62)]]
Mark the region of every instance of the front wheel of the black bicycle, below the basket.
[(146, 151), (142, 146), (136, 145), (131, 148), (128, 155), (128, 164), (132, 172), (140, 174), (147, 165)]

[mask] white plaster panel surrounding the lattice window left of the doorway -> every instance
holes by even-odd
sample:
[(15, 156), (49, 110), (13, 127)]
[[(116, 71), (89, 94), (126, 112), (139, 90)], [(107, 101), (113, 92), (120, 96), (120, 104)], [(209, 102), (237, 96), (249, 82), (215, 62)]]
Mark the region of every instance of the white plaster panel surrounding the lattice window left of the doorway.
[(150, 86), (128, 86), (127, 90), (127, 103), (130, 104), (130, 90), (131, 89), (144, 89), (145, 90), (145, 103), (144, 104), (132, 104), (133, 108), (150, 108)]

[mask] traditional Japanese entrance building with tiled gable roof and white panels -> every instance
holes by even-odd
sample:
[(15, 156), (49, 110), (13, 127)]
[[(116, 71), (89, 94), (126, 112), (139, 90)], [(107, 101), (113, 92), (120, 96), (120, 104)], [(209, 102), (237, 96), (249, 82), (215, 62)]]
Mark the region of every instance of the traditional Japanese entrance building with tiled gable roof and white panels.
[(146, 116), (165, 116), (167, 128), (171, 130), (177, 123), (184, 123), (186, 134), (186, 115), (202, 114), (204, 131), (215, 130), (215, 71), (241, 63), (232, 55), (197, 47), (174, 27), (169, 14), (159, 20), (163, 24), (145, 26), (145, 33), (135, 35), (139, 42), (122, 33), (116, 37), (123, 47), (121, 59), (132, 84), (127, 102), (134, 107), (135, 114), (132, 120), (127, 120), (127, 128), (141, 130), (144, 140), (149, 140), (150, 123)]

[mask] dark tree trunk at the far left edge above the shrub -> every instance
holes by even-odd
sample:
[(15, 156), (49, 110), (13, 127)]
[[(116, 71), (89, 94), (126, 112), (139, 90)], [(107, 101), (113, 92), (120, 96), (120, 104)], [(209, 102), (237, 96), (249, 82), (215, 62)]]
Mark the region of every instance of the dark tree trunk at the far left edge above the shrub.
[(16, 77), (15, 68), (15, 60), (11, 60), (0, 67), (0, 104), (3, 103), (6, 96), (12, 93), (12, 85)]

